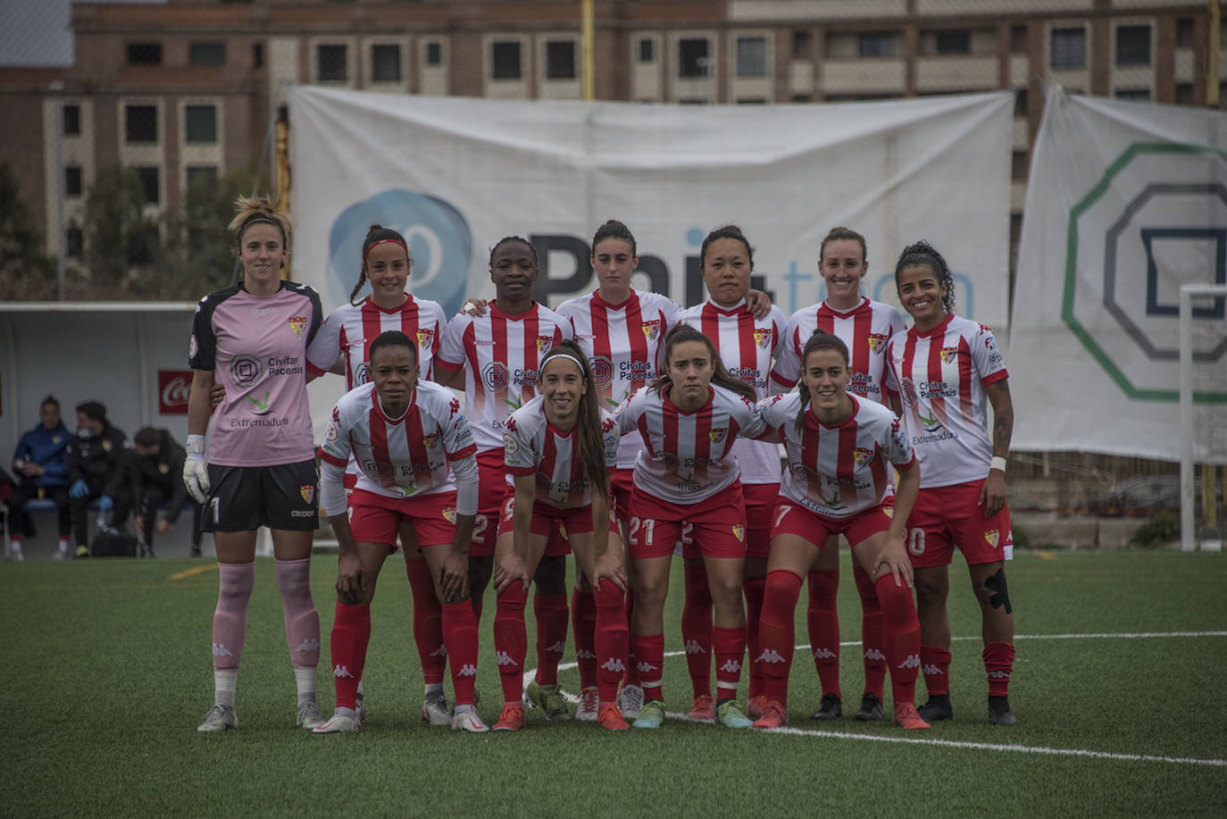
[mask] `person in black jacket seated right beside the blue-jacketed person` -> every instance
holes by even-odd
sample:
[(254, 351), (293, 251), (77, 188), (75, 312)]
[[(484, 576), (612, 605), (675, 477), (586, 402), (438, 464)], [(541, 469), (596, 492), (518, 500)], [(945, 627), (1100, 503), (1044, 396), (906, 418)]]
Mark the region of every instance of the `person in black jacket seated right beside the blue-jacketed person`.
[[(90, 555), (90, 502), (102, 499), (119, 468), (119, 456), (128, 446), (128, 436), (107, 420), (107, 408), (98, 402), (77, 404), (77, 440), (69, 447), (69, 510), (76, 556)], [(120, 528), (131, 510), (131, 495), (124, 487), (115, 495), (99, 500), (99, 508), (110, 512), (109, 526)]]

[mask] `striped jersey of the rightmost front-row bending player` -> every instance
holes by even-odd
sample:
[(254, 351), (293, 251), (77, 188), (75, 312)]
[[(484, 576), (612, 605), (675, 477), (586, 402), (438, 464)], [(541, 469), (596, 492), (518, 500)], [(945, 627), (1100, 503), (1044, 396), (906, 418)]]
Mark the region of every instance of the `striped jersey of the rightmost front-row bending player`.
[(827, 426), (805, 409), (796, 430), (801, 397), (775, 395), (762, 405), (763, 419), (779, 430), (788, 449), (788, 469), (779, 492), (811, 512), (843, 518), (880, 506), (894, 494), (891, 465), (908, 468), (915, 458), (899, 419), (888, 408), (855, 395), (853, 413)]

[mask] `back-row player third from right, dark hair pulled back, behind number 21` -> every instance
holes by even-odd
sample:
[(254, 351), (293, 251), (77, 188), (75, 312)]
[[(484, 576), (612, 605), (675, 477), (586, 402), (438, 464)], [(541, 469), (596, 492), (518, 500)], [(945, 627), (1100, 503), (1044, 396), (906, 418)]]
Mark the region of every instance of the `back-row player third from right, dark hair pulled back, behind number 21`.
[[(772, 361), (782, 345), (784, 314), (778, 307), (756, 318), (747, 305), (750, 274), (753, 273), (750, 242), (734, 225), (707, 235), (699, 249), (699, 270), (708, 300), (686, 309), (679, 320), (693, 327), (715, 345), (724, 366), (735, 378), (755, 389), (755, 399), (767, 398)], [(746, 502), (746, 642), (750, 648), (750, 699), (746, 713), (762, 715), (766, 704), (762, 667), (758, 662), (758, 613), (767, 580), (767, 550), (771, 546), (771, 512), (779, 496), (779, 447), (766, 441), (742, 438), (733, 446), (741, 467), (741, 491)], [(682, 640), (691, 674), (694, 702), (690, 716), (710, 720), (712, 700), (712, 596), (702, 555), (682, 533), (682, 571), (686, 603), (682, 608)]]

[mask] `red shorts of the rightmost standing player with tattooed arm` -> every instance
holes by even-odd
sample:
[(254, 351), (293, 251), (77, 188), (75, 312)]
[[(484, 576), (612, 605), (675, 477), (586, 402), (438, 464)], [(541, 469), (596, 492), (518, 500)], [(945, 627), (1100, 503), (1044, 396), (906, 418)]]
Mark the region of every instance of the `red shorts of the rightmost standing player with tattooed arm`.
[(908, 556), (918, 569), (948, 566), (955, 546), (969, 566), (1014, 557), (1010, 507), (988, 518), (977, 506), (984, 480), (921, 489), (908, 517)]

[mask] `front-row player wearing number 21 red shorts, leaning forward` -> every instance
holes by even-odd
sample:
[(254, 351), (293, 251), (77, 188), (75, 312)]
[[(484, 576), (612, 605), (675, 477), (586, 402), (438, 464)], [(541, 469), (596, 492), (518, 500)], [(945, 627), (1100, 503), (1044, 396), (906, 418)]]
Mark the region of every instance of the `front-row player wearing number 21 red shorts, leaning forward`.
[(710, 339), (679, 325), (665, 339), (665, 375), (618, 406), (621, 431), (638, 429), (644, 442), (631, 500), (637, 583), (631, 641), (644, 689), (636, 728), (659, 728), (665, 718), (664, 605), (683, 524), (703, 555), (715, 608), (715, 720), (730, 728), (751, 724), (736, 701), (746, 651), (746, 513), (733, 444), (737, 436), (767, 431), (753, 398), (753, 388), (720, 363)]

